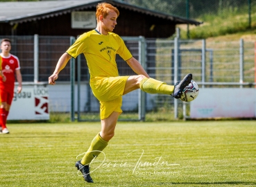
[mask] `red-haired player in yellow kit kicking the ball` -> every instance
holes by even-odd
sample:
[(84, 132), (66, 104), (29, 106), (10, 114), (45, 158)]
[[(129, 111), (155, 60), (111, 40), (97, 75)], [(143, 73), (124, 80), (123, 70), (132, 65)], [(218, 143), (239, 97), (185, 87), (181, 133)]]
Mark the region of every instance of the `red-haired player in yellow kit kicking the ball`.
[[(150, 94), (169, 94), (180, 98), (183, 89), (191, 82), (189, 73), (175, 86), (167, 85), (150, 78), (139, 62), (128, 51), (119, 35), (112, 33), (117, 25), (119, 10), (109, 3), (99, 3), (96, 7), (96, 29), (80, 35), (69, 47), (49, 77), (49, 84), (56, 84), (58, 74), (65, 68), (71, 57), (80, 53), (85, 55), (90, 73), (90, 87), (100, 102), (101, 132), (96, 134), (83, 159), (76, 162), (76, 168), (82, 172), (85, 181), (93, 182), (89, 175), (89, 163), (99, 155), (114, 136), (117, 119), (121, 114), (122, 96), (135, 89), (142, 89)], [(137, 75), (119, 76), (116, 54), (127, 62)]]

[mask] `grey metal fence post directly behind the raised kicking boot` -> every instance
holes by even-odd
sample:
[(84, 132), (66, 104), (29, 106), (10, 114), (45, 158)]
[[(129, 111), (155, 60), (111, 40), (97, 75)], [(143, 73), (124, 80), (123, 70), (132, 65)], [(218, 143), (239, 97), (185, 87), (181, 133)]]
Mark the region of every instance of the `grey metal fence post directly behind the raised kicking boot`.
[[(179, 39), (175, 37), (174, 39), (174, 75), (173, 82), (176, 84), (178, 81), (178, 51), (179, 51)], [(174, 100), (174, 118), (178, 118), (178, 100)]]

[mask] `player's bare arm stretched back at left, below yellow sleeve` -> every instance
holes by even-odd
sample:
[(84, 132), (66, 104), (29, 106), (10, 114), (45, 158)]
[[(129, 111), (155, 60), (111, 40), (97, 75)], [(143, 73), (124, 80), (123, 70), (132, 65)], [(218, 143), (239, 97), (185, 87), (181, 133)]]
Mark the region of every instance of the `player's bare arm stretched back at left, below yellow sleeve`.
[(49, 77), (49, 84), (56, 84), (56, 80), (58, 79), (58, 74), (60, 73), (60, 71), (62, 69), (65, 68), (65, 66), (67, 65), (67, 62), (69, 62), (69, 60), (71, 59), (71, 55), (69, 55), (68, 53), (64, 53), (60, 59), (58, 60), (58, 63), (56, 65), (56, 69), (53, 72), (53, 74)]

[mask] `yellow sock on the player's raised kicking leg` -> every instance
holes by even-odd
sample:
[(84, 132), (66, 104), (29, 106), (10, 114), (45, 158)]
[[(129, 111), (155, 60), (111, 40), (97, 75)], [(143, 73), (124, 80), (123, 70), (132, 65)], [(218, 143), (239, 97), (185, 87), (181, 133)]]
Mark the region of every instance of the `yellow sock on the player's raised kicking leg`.
[(139, 84), (140, 89), (149, 94), (173, 94), (174, 86), (153, 78), (144, 78)]

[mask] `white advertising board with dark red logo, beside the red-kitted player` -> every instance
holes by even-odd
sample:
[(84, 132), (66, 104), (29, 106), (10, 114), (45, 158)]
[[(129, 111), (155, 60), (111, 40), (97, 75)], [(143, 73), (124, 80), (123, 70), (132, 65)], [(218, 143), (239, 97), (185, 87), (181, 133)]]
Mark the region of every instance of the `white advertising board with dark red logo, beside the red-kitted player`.
[(49, 89), (22, 87), (12, 100), (8, 120), (49, 120)]

